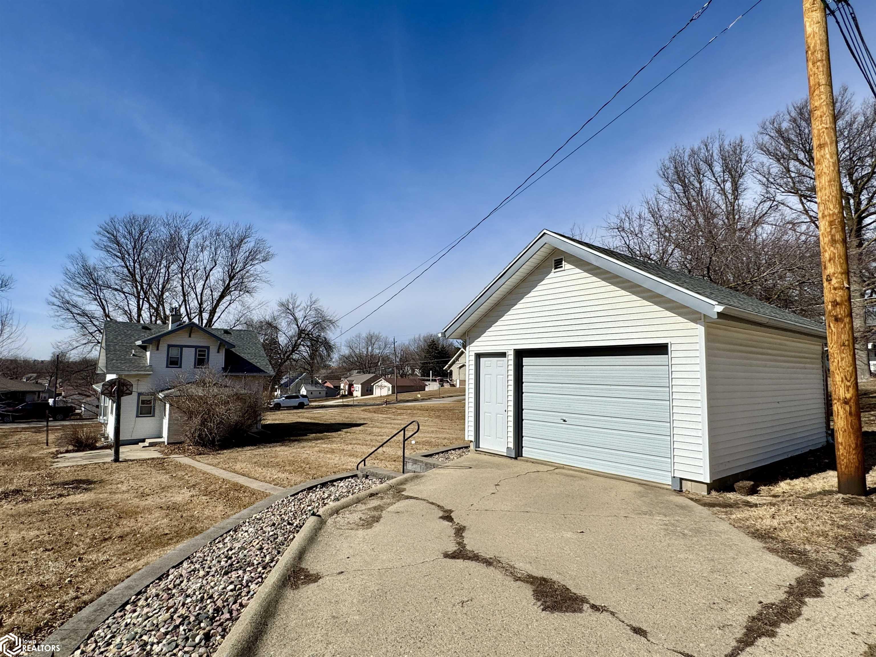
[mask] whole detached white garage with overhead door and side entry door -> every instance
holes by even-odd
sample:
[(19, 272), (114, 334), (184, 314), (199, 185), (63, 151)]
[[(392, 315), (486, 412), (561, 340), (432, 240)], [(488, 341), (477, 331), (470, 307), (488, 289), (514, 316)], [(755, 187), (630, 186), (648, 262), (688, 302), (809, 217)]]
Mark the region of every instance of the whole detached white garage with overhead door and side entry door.
[(444, 333), (476, 449), (708, 491), (827, 440), (822, 324), (550, 230)]

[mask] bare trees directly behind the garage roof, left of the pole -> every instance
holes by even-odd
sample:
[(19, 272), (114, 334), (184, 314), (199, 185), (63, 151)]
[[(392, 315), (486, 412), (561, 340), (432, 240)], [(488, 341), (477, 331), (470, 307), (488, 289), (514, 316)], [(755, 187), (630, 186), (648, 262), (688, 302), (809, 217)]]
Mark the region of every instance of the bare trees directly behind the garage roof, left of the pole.
[(660, 182), (605, 226), (605, 244), (795, 312), (819, 316), (817, 231), (762, 194), (757, 151), (723, 134), (661, 160)]

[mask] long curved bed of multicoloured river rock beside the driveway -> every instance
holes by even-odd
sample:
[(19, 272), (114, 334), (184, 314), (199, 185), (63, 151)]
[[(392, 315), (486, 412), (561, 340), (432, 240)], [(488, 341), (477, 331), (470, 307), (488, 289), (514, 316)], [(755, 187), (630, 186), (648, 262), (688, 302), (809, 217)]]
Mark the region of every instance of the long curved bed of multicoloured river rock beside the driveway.
[(215, 653), (311, 513), (379, 484), (350, 477), (279, 500), (132, 597), (74, 655)]

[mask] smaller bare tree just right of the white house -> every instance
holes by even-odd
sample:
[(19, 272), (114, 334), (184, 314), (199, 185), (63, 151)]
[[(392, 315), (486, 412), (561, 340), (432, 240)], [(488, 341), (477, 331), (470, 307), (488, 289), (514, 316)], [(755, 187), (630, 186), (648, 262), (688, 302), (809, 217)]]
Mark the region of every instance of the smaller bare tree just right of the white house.
[(335, 350), (331, 333), (336, 324), (335, 317), (313, 294), (304, 300), (290, 294), (279, 300), (271, 313), (249, 322), (271, 362), (272, 387), (290, 367), (305, 369), (313, 375), (328, 364)]

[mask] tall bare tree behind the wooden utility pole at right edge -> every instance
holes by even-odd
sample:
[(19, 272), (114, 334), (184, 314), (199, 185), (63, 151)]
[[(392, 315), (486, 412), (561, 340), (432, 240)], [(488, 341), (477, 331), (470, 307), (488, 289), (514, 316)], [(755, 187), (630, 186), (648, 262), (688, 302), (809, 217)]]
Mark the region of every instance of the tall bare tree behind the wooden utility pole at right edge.
[[(876, 303), (876, 102), (858, 105), (843, 86), (835, 104), (858, 377), (867, 378), (867, 343), (873, 330), (867, 326), (866, 307)], [(761, 122), (757, 147), (761, 160), (756, 171), (764, 193), (785, 210), (793, 230), (817, 230), (808, 99), (793, 102)], [(821, 314), (823, 307), (816, 310)]]

